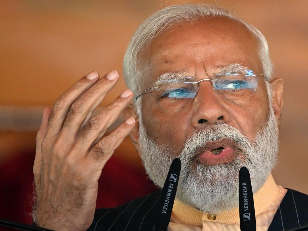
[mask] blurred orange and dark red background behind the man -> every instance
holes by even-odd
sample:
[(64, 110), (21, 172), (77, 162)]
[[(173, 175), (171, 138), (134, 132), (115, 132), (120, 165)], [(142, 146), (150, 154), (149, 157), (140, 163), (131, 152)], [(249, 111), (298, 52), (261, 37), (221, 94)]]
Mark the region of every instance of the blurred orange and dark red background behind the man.
[[(274, 179), (308, 193), (308, 1), (7, 0), (0, 1), (0, 218), (32, 222), (27, 213), (43, 107), (53, 107), (92, 70), (103, 76), (116, 69), (123, 76), (125, 49), (142, 21), (165, 6), (200, 2), (226, 7), (265, 35), (274, 77), (285, 80)], [(100, 106), (124, 90), (121, 78)], [(120, 205), (155, 190), (127, 138), (103, 169), (97, 206)]]

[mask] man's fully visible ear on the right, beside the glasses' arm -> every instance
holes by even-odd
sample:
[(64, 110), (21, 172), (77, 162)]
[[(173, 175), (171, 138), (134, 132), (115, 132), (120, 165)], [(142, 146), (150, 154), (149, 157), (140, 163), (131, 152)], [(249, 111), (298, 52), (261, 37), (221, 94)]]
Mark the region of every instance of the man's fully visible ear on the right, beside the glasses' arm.
[(282, 99), (282, 92), (283, 92), (283, 79), (277, 78), (273, 79), (270, 82), (272, 93), (272, 106), (274, 109), (274, 114), (276, 116), (277, 125), (279, 127), (281, 114), (282, 114), (282, 106), (283, 106), (283, 99)]

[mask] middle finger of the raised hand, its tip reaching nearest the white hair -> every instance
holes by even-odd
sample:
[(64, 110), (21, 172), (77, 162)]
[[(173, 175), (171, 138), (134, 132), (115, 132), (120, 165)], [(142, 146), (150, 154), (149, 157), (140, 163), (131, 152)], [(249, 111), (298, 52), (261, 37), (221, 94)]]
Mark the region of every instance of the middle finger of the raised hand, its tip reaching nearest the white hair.
[[(75, 141), (83, 121), (91, 115), (107, 93), (115, 86), (118, 79), (119, 75), (116, 71), (109, 72), (71, 105), (59, 134), (59, 139), (62, 137), (63, 140), (67, 140), (67, 137), (70, 137), (73, 138), (71, 142)], [(67, 142), (70, 141), (67, 140)]]

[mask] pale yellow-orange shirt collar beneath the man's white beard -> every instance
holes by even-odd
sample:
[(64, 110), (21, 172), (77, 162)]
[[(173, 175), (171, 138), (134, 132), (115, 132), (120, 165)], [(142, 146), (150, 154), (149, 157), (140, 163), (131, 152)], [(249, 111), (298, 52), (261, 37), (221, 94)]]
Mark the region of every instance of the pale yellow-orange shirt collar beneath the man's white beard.
[[(278, 196), (279, 188), (274, 181), (272, 174), (270, 174), (262, 187), (253, 194), (253, 201), (256, 215), (269, 207)], [(183, 202), (175, 199), (172, 213), (176, 215), (181, 221), (191, 225), (202, 225), (203, 221), (212, 221), (219, 223), (237, 223), (239, 220), (238, 207), (223, 211), (216, 214), (215, 220), (208, 219), (208, 213), (203, 213), (192, 206), (185, 205)]]

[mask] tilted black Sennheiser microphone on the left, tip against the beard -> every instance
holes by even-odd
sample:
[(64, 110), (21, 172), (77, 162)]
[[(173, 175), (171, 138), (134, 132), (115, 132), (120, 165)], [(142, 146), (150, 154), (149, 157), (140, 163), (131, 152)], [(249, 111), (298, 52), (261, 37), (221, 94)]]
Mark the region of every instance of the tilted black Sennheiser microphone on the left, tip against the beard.
[(169, 168), (169, 172), (161, 191), (158, 214), (155, 220), (155, 231), (166, 231), (169, 225), (173, 203), (176, 195), (177, 184), (181, 171), (181, 160), (175, 158)]

